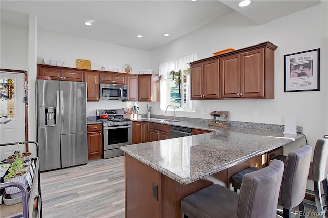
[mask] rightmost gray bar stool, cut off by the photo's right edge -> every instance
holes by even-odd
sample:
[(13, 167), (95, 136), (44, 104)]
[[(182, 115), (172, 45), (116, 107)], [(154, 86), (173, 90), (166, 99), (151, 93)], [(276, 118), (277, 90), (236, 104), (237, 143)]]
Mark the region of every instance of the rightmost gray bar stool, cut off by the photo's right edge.
[[(313, 161), (310, 164), (309, 180), (313, 181), (314, 192), (306, 190), (307, 192), (313, 193), (316, 201), (316, 209), (319, 213), (319, 217), (324, 217), (327, 207), (324, 207), (321, 196), (320, 183), (322, 182), (324, 190), (325, 201), (328, 201), (328, 137), (318, 139), (314, 148)], [(306, 204), (306, 206), (311, 206)]]

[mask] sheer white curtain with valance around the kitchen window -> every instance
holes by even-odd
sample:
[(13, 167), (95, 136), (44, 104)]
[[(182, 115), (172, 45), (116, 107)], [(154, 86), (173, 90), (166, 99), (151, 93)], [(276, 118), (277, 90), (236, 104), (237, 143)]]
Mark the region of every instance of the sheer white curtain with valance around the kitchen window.
[[(190, 66), (188, 63), (197, 60), (197, 54), (192, 53), (174, 60), (159, 64), (160, 78), (160, 109), (165, 110), (166, 106), (170, 104), (169, 88), (170, 88), (170, 72), (172, 70), (187, 70)], [(193, 106), (190, 100), (190, 75), (187, 75), (187, 110), (192, 110)]]

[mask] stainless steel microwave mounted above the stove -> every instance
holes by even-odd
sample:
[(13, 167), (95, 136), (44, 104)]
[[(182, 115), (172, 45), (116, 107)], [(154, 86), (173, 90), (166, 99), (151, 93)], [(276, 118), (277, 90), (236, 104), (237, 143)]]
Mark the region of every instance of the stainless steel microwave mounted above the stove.
[(100, 83), (99, 98), (101, 100), (126, 100), (128, 99), (128, 85)]

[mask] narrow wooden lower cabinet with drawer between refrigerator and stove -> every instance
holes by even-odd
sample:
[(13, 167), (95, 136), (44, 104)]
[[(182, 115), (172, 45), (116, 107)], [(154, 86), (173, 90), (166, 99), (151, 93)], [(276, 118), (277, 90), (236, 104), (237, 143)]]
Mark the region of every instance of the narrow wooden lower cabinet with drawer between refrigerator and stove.
[(88, 125), (88, 160), (103, 156), (103, 125)]

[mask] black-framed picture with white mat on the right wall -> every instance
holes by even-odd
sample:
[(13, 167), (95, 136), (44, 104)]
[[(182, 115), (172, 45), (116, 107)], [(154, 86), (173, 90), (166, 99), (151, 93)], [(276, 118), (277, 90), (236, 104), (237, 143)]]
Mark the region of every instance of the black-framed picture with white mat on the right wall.
[(284, 55), (285, 92), (320, 90), (320, 49)]

